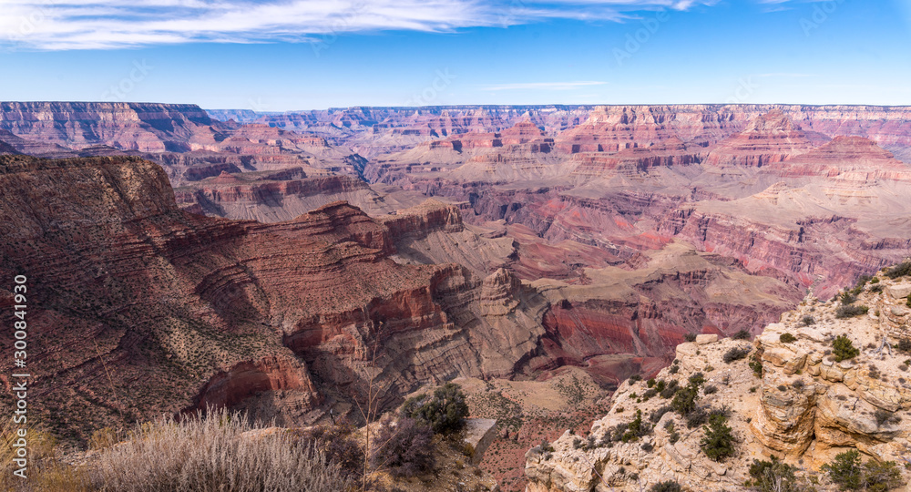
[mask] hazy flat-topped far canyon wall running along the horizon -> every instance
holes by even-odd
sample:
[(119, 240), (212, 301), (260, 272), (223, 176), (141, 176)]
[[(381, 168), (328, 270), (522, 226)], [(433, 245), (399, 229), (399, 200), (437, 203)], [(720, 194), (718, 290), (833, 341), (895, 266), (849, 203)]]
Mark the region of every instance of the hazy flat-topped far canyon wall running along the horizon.
[(839, 135), (870, 138), (889, 149), (911, 145), (911, 131), (904, 124), (911, 117), (911, 108), (907, 107), (550, 105), (332, 108), (280, 115), (210, 111), (210, 114), (222, 120), (235, 118), (242, 123), (264, 123), (314, 133), (336, 144), (357, 142), (363, 146), (359, 152), (374, 157), (413, 147), (426, 138), (446, 138), (472, 131), (495, 132), (526, 119), (544, 128), (549, 136), (564, 133), (557, 138), (557, 148), (567, 152), (648, 147), (650, 142), (670, 137), (711, 145), (743, 131), (752, 119), (772, 111), (781, 111), (791, 118), (816, 145), (824, 143), (825, 136)]

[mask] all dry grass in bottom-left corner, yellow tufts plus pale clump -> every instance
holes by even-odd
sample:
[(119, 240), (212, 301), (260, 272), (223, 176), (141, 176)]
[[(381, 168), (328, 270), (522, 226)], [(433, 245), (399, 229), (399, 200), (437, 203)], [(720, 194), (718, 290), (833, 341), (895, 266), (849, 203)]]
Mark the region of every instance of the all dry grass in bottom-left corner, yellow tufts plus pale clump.
[(239, 414), (215, 412), (180, 422), (166, 418), (120, 433), (92, 436), (85, 466), (62, 462), (55, 440), (28, 430), (28, 477), (15, 477), (16, 428), (0, 424), (0, 490), (10, 492), (340, 492), (353, 477), (312, 439), (266, 431)]

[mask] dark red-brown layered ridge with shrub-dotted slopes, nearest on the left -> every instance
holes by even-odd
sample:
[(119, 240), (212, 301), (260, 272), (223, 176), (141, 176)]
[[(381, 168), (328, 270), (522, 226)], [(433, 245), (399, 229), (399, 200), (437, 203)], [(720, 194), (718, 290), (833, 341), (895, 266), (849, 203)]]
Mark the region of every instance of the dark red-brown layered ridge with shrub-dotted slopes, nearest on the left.
[(350, 398), (383, 367), (390, 402), (478, 374), (480, 281), (396, 263), (389, 229), (346, 203), (275, 224), (210, 219), (179, 210), (148, 161), (3, 159), (0, 271), (29, 278), (46, 388), (30, 403), (64, 436), (263, 392), (290, 398), (275, 415), (312, 418), (323, 390), (309, 374)]

